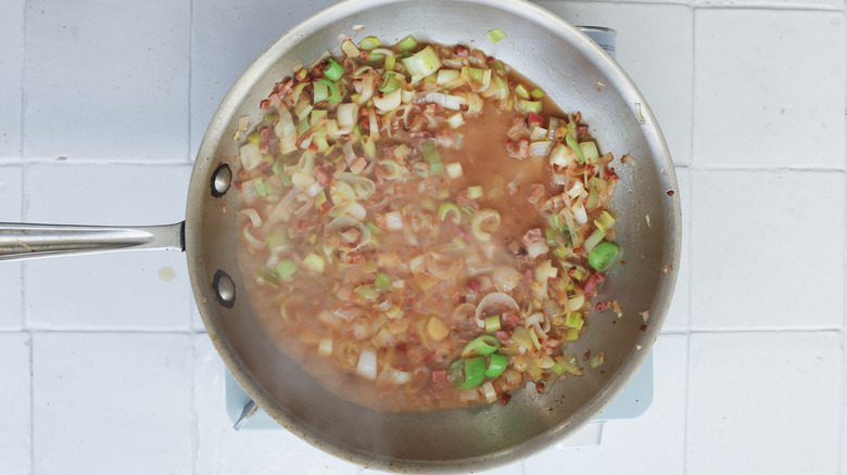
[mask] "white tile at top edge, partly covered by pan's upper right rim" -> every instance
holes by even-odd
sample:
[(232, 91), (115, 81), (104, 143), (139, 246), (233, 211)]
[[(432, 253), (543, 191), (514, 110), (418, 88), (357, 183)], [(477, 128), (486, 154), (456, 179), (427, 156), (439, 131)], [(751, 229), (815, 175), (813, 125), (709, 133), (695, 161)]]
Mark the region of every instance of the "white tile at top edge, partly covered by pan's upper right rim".
[[(536, 1), (574, 25), (617, 30), (617, 61), (647, 100), (673, 163), (691, 163), (694, 21), (680, 4)], [(657, 54), (661, 51), (661, 54)]]

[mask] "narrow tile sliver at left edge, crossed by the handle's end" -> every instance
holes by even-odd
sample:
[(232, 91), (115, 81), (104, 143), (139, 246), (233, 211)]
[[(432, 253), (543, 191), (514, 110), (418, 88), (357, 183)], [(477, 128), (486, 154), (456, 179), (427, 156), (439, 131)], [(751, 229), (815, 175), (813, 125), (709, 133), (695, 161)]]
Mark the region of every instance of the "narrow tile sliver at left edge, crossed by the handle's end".
[[(21, 221), (23, 168), (0, 166), (0, 221)], [(23, 324), (21, 262), (0, 262), (0, 329), (20, 330)]]

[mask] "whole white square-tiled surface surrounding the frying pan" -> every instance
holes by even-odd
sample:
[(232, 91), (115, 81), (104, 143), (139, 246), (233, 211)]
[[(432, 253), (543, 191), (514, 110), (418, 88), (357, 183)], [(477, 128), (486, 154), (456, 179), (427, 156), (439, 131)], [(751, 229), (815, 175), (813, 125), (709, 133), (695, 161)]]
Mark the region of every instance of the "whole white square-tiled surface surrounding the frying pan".
[[(182, 219), (229, 85), (330, 3), (0, 0), (0, 220)], [(618, 30), (684, 247), (647, 412), (493, 473), (847, 474), (844, 0), (539, 3)], [(179, 253), (1, 265), (0, 381), (4, 474), (368, 472), (231, 431)]]

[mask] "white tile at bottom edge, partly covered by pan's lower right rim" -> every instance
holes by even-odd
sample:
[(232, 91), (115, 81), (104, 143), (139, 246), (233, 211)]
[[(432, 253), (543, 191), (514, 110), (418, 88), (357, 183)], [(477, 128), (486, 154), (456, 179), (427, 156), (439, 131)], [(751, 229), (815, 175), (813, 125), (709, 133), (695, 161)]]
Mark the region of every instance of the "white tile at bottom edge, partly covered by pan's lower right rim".
[(653, 351), (654, 396), (644, 414), (606, 422), (597, 446), (551, 449), (527, 459), (524, 473), (551, 473), (554, 466), (573, 474), (684, 473), (687, 336), (660, 335)]

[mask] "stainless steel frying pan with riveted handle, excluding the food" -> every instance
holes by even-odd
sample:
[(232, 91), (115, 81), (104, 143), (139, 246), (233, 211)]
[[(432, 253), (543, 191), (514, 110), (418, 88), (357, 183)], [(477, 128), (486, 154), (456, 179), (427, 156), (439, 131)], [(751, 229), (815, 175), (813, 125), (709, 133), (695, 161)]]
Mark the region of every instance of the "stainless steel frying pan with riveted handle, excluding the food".
[[(625, 265), (609, 272), (599, 299), (617, 299), (624, 317), (589, 317), (577, 354), (605, 349), (601, 371), (554, 385), (548, 394), (518, 391), (507, 406), (421, 414), (363, 409), (338, 399), (292, 363), (266, 335), (243, 291), (236, 264), (238, 170), (232, 136), (239, 119), (260, 119), (257, 104), (294, 63), (338, 36), (406, 35), (481, 48), (534, 80), (565, 111), (580, 111), (602, 152), (628, 153), (619, 165), (612, 211)], [(498, 27), (497, 44), (485, 33)], [(265, 50), (215, 113), (191, 177), (185, 222), (164, 227), (56, 228), (5, 224), (3, 258), (139, 247), (186, 252), (197, 304), (229, 370), (262, 409), (315, 446), (366, 466), (409, 471), (481, 470), (542, 450), (597, 415), (622, 390), (659, 334), (680, 258), (680, 202), (669, 152), (639, 90), (601, 48), (559, 17), (522, 0), (344, 1), (309, 17)], [(649, 311), (643, 326), (640, 312)]]

